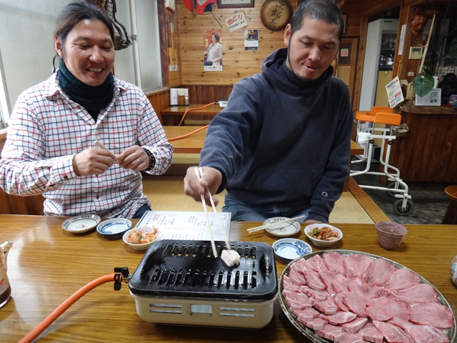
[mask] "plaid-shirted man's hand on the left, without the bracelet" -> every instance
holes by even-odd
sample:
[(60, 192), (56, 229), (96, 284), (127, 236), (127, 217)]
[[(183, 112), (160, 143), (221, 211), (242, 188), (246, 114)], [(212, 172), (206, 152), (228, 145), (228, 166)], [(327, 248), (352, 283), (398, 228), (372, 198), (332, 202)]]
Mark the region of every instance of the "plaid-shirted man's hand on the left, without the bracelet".
[(78, 175), (100, 175), (114, 164), (116, 156), (104, 149), (86, 149), (73, 157), (73, 169)]

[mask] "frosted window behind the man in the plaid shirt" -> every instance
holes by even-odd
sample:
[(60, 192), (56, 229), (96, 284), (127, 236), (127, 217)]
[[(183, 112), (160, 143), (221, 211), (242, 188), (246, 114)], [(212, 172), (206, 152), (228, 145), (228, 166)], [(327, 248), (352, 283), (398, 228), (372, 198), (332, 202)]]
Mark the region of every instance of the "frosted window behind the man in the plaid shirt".
[[(19, 94), (51, 74), (56, 19), (71, 2), (0, 1), (0, 129), (7, 124)], [(156, 1), (116, 0), (116, 7), (116, 19), (126, 26), (133, 44), (116, 51), (114, 74), (145, 92), (161, 88)]]

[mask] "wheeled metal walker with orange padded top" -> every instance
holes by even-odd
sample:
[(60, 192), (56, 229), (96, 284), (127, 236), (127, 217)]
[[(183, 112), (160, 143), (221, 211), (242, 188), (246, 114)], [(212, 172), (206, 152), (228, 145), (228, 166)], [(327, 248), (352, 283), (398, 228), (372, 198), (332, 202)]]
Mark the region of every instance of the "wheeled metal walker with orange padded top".
[[(376, 189), (386, 191), (392, 197), (396, 197), (393, 202), (393, 212), (400, 216), (408, 216), (413, 212), (414, 204), (411, 200), (411, 195), (408, 194), (408, 185), (400, 178), (400, 170), (395, 166), (388, 164), (388, 159), (391, 154), (391, 146), (396, 136), (393, 135), (393, 126), (401, 124), (401, 115), (393, 113), (393, 109), (389, 107), (372, 107), (371, 111), (356, 112), (357, 132), (366, 132), (368, 134), (368, 157), (352, 161), (353, 164), (366, 162), (366, 168), (362, 171), (351, 170), (350, 176), (370, 174), (387, 177), (389, 183), (387, 187), (376, 187), (364, 184), (359, 184), (364, 189)], [(362, 124), (368, 124), (368, 129), (363, 129)], [(375, 124), (385, 124), (383, 127), (376, 127)], [(370, 172), (371, 159), (374, 139), (381, 139), (381, 155), (379, 161), (383, 166), (383, 172)], [(385, 152), (385, 160), (384, 160)], [(381, 167), (382, 169), (382, 167)]]

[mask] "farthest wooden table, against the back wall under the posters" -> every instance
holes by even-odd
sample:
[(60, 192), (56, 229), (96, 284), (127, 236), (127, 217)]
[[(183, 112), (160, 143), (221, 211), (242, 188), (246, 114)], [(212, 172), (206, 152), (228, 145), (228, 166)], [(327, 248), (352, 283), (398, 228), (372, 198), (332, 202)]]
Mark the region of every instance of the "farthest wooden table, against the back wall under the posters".
[[(166, 109), (161, 110), (160, 114), (162, 116), (162, 122), (164, 125), (179, 125), (179, 122), (183, 118), (184, 113), (188, 109), (195, 109), (196, 107), (202, 107), (206, 104), (190, 104), (189, 106), (170, 106)], [(216, 116), (220, 111), (222, 111), (219, 104), (213, 104), (204, 109), (195, 109), (187, 112), (186, 119), (182, 125), (192, 124), (192, 125), (202, 125), (209, 124), (211, 119)]]

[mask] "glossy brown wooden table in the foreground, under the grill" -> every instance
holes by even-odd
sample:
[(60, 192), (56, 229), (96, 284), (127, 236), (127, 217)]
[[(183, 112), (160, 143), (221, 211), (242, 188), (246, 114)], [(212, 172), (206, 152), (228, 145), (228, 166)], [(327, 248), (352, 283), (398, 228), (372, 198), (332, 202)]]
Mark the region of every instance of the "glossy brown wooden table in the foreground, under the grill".
[[(77, 289), (113, 273), (114, 267), (129, 267), (132, 274), (144, 256), (94, 231), (66, 232), (62, 222), (59, 217), (0, 215), (0, 244), (14, 242), (8, 255), (12, 299), (0, 309), (1, 342), (18, 342)], [(246, 229), (257, 224), (232, 222), (229, 239), (272, 244), (277, 238), (269, 234), (247, 234)], [(449, 272), (457, 254), (456, 225), (407, 225), (408, 234), (395, 251), (379, 246), (373, 224), (335, 226), (344, 237), (332, 249), (368, 252), (403, 264), (431, 282), (457, 311)], [(303, 230), (294, 237), (306, 240)], [(278, 275), (284, 267), (276, 261)], [(149, 324), (136, 314), (128, 285), (114, 292), (112, 283), (79, 299), (41, 337), (39, 342), (310, 342), (289, 322), (277, 300), (270, 324), (258, 330)]]

